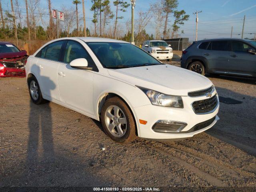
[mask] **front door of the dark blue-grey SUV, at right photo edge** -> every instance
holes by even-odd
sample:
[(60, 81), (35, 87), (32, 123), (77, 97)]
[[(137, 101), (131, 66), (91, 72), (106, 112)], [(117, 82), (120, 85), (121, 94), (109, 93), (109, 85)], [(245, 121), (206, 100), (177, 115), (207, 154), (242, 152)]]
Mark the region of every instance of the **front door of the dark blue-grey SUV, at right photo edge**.
[(256, 72), (256, 55), (247, 52), (248, 49), (254, 48), (242, 41), (232, 41), (229, 74), (252, 76)]

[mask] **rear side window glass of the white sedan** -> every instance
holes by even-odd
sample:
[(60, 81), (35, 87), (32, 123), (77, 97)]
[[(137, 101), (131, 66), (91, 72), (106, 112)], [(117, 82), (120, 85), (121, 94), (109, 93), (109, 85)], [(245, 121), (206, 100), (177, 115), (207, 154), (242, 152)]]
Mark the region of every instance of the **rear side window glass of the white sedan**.
[(36, 57), (58, 61), (63, 42), (64, 41), (53, 42), (45, 46), (36, 54)]

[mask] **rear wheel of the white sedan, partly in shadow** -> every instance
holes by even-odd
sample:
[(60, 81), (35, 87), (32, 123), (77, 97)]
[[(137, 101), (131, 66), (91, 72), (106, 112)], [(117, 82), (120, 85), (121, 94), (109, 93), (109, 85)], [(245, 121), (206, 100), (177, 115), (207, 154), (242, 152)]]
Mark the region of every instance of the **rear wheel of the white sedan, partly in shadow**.
[(35, 76), (28, 78), (28, 90), (34, 104), (39, 105), (46, 102), (46, 100), (42, 98), (40, 86)]

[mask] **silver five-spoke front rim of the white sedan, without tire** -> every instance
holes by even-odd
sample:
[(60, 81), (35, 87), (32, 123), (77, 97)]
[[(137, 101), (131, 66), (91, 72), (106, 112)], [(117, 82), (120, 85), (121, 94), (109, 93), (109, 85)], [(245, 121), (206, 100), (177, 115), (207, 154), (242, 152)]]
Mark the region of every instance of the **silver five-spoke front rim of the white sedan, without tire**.
[(127, 130), (124, 112), (116, 105), (109, 106), (105, 112), (105, 122), (109, 132), (115, 137), (122, 137)]

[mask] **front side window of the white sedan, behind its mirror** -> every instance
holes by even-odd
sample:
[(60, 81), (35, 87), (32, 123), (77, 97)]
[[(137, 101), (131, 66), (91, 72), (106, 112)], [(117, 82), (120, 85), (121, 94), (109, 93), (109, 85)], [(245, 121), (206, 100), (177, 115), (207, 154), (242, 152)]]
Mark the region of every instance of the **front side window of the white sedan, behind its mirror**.
[(88, 61), (88, 64), (92, 63), (91, 57), (81, 44), (74, 41), (68, 41), (66, 45), (63, 62), (70, 64), (72, 60), (78, 58), (85, 58)]

